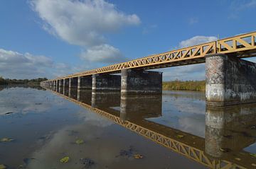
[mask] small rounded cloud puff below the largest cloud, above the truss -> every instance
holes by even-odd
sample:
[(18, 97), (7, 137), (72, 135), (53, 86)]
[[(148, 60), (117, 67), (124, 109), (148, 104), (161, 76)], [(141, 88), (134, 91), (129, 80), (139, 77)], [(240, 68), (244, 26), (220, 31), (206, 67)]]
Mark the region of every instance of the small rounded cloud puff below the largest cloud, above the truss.
[(110, 45), (91, 47), (85, 52), (82, 52), (80, 57), (90, 62), (117, 63), (125, 61), (125, 58), (119, 49)]

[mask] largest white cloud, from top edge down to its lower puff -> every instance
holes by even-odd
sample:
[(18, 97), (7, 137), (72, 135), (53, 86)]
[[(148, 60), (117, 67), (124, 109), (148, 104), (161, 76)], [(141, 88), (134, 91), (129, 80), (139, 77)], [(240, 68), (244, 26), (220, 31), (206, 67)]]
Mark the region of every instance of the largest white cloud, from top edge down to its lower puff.
[(44, 21), (44, 29), (65, 42), (83, 47), (86, 51), (82, 57), (92, 62), (124, 59), (118, 49), (107, 45), (105, 35), (140, 23), (137, 15), (118, 11), (114, 4), (104, 0), (31, 0), (31, 6)]

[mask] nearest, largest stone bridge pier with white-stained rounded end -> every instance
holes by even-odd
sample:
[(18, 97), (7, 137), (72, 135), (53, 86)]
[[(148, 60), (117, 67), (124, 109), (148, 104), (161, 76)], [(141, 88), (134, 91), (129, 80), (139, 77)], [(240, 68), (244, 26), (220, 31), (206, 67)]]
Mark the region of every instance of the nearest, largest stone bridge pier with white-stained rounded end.
[(225, 54), (206, 56), (206, 105), (255, 102), (255, 63)]

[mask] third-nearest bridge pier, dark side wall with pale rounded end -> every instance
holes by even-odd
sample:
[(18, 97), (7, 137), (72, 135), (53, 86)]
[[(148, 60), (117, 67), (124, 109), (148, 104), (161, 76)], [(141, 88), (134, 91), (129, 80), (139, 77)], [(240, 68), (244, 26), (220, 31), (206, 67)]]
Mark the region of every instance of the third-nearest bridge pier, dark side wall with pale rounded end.
[(92, 93), (96, 91), (120, 91), (121, 76), (110, 74), (92, 75)]

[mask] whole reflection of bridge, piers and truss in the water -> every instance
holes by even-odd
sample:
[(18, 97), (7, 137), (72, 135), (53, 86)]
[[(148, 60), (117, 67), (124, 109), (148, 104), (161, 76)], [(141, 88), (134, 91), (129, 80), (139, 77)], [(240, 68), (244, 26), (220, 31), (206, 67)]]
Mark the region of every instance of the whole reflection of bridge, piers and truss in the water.
[(256, 168), (256, 158), (243, 151), (255, 143), (256, 105), (207, 107), (204, 139), (145, 120), (161, 116), (161, 95), (121, 97), (75, 88), (54, 92), (208, 168)]

